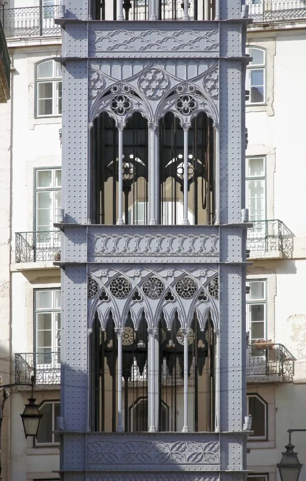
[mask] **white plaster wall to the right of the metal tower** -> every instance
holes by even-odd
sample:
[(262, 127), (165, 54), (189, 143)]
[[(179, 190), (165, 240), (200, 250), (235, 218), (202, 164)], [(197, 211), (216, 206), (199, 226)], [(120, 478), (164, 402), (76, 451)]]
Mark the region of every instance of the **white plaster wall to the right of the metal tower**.
[[(266, 156), (267, 218), (282, 220), (293, 237), (289, 259), (255, 261), (247, 271), (249, 279), (267, 280), (267, 338), (283, 344), (296, 359), (293, 384), (248, 385), (248, 392), (260, 391), (269, 403), (269, 439), (275, 439), (274, 446), (249, 442), (248, 468), (269, 472), (269, 481), (278, 481), (276, 463), (288, 441), (287, 429), (306, 428), (306, 65), (301, 61), (306, 31), (252, 32), (249, 45), (266, 48), (268, 101), (246, 109), (247, 155)], [(292, 442), (305, 465), (306, 433), (294, 433)], [(299, 479), (306, 480), (305, 468)]]

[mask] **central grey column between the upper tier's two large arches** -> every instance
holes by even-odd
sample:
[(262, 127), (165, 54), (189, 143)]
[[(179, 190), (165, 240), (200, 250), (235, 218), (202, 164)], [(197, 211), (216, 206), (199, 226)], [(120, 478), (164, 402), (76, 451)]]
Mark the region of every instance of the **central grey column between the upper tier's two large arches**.
[(148, 122), (148, 201), (149, 224), (158, 223), (159, 193), (159, 124)]

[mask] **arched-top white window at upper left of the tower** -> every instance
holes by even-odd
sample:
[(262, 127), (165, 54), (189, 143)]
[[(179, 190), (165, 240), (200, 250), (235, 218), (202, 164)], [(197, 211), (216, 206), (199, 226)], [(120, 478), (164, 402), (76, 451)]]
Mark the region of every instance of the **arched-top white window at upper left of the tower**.
[(62, 66), (55, 60), (36, 65), (36, 116), (62, 114)]

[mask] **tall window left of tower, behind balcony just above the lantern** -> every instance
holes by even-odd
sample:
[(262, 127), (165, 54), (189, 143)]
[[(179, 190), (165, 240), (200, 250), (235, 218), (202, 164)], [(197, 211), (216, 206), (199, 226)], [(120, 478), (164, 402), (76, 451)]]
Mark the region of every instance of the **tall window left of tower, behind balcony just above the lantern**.
[(60, 363), (61, 291), (44, 289), (35, 292), (36, 362), (47, 367)]

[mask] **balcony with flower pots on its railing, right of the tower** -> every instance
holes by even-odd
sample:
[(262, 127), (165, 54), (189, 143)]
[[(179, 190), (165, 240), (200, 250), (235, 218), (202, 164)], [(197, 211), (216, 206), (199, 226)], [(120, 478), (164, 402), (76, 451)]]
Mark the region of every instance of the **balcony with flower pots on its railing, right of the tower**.
[(294, 361), (282, 344), (251, 344), (247, 351), (247, 382), (292, 382)]

